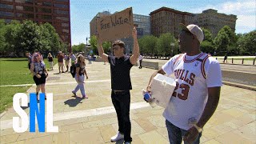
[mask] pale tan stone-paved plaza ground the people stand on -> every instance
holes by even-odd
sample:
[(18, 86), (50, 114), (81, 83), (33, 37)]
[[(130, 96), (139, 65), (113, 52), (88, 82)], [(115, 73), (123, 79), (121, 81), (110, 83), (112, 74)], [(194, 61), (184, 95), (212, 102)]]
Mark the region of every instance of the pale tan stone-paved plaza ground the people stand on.
[[(118, 130), (118, 121), (110, 98), (110, 65), (93, 62), (86, 65), (88, 99), (74, 98), (71, 90), (76, 86), (70, 73), (50, 71), (46, 92), (54, 94), (54, 126), (58, 133), (17, 134), (12, 128), (12, 118), (18, 116), (12, 108), (1, 118), (1, 143), (112, 143), (111, 136)], [(168, 143), (163, 109), (151, 108), (142, 99), (151, 69), (131, 69), (130, 118), (133, 143)], [(34, 92), (32, 86), (27, 94)], [(78, 97), (81, 97), (78, 92)], [(25, 109), (29, 113), (29, 108)], [(222, 86), (221, 99), (214, 116), (204, 127), (202, 143), (255, 143), (256, 142), (256, 92), (232, 86)], [(122, 143), (122, 141), (118, 142)]]

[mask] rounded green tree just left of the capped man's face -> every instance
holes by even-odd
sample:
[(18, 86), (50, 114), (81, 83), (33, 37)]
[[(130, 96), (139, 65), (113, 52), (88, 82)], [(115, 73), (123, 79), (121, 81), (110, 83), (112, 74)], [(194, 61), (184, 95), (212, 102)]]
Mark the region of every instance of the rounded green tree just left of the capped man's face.
[(174, 35), (170, 33), (161, 34), (157, 42), (158, 54), (164, 54), (166, 57), (171, 54), (171, 51), (176, 54), (176, 49), (170, 46), (170, 43), (174, 43), (177, 46), (177, 40), (174, 38)]

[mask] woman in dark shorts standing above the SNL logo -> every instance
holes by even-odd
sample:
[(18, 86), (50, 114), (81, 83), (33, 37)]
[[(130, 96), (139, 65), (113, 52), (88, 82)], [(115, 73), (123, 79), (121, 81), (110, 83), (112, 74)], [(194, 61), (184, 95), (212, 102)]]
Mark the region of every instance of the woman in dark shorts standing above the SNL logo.
[[(42, 93), (46, 93), (46, 78), (48, 76), (47, 70), (46, 70), (46, 64), (42, 61), (42, 55), (38, 53), (34, 53), (32, 57), (32, 62), (30, 66), (31, 74), (34, 75), (33, 79), (36, 87), (36, 94), (37, 94), (37, 100), (38, 100), (38, 93), (39, 90), (42, 91)], [(45, 97), (46, 99), (46, 97)]]

